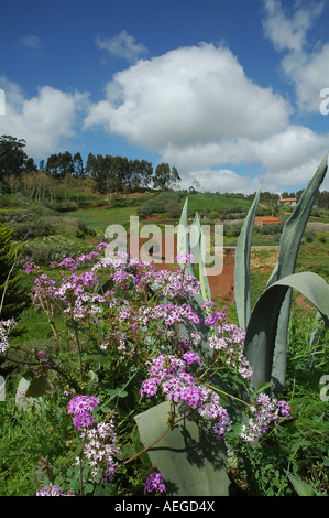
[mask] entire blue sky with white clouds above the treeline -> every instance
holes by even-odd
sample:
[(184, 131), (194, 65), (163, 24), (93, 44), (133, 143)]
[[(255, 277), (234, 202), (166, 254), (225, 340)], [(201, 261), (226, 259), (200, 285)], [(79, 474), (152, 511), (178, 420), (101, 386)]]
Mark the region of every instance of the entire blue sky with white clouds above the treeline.
[(1, 22), (0, 134), (37, 164), (119, 154), (281, 193), (329, 148), (328, 1), (2, 0)]

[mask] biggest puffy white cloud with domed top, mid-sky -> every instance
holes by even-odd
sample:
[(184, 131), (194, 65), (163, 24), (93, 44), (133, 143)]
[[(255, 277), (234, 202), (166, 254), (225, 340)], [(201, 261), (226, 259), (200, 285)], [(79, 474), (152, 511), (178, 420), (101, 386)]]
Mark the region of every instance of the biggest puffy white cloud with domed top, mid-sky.
[(201, 44), (171, 51), (119, 72), (86, 126), (151, 150), (260, 138), (281, 131), (289, 106), (244, 74), (229, 48)]

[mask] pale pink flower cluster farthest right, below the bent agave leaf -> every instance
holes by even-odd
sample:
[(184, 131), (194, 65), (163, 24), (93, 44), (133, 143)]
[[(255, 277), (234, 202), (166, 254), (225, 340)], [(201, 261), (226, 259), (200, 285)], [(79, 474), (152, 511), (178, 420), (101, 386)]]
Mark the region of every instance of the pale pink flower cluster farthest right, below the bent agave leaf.
[(283, 418), (290, 418), (290, 407), (284, 400), (271, 399), (265, 393), (260, 393), (255, 403), (250, 407), (251, 418), (242, 425), (240, 436), (249, 442), (259, 440), (266, 433), (273, 423), (278, 423)]

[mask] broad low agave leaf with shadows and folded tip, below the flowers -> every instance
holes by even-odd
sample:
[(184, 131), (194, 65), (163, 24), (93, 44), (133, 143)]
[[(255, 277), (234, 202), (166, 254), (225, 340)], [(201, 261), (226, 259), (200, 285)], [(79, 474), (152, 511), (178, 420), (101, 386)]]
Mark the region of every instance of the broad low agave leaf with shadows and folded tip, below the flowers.
[[(135, 417), (145, 447), (168, 428), (168, 412), (166, 401)], [(228, 496), (226, 449), (210, 422), (184, 418), (149, 450), (149, 456), (163, 474), (168, 496)]]

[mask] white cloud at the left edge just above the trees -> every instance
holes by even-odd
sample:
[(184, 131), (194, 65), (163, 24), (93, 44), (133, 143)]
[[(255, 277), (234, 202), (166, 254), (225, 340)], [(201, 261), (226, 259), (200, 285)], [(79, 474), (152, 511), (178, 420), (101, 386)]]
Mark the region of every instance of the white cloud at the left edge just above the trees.
[(35, 159), (56, 152), (63, 138), (74, 137), (77, 117), (86, 108), (87, 95), (64, 93), (51, 86), (25, 98), (19, 85), (0, 77), (6, 91), (6, 116), (0, 117), (0, 134), (26, 140), (26, 152)]

